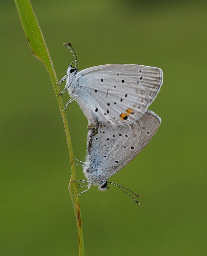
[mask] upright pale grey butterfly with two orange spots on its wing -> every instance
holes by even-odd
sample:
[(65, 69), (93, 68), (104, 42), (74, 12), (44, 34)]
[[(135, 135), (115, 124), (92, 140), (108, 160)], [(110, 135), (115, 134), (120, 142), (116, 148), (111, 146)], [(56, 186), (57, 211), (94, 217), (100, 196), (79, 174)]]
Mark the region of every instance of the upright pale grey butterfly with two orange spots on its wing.
[[(66, 107), (77, 100), (89, 124), (104, 121), (109, 124), (136, 123), (156, 98), (162, 85), (162, 70), (133, 64), (108, 64), (77, 69), (77, 56), (70, 43), (64, 44), (75, 59), (67, 74), (59, 81), (66, 80), (62, 95), (71, 96)], [(70, 47), (71, 48), (70, 48)], [(72, 50), (71, 50), (72, 49)]]

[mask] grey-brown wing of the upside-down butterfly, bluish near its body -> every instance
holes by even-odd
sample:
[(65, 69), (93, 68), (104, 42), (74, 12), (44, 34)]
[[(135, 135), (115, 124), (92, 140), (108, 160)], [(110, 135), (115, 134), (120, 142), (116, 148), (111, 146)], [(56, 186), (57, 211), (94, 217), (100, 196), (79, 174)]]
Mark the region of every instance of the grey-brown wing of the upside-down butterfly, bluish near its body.
[(147, 111), (131, 127), (100, 125), (90, 145), (88, 160), (97, 173), (105, 179), (129, 163), (154, 136), (161, 119)]

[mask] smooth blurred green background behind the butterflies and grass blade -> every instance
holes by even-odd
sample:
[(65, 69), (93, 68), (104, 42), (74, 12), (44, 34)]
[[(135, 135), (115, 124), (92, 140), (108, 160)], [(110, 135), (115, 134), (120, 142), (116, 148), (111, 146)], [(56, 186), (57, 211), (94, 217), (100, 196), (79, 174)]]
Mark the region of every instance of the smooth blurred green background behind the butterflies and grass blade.
[[(81, 195), (87, 255), (206, 255), (205, 1), (32, 6), (58, 79), (72, 60), (66, 41), (79, 70), (132, 63), (164, 74), (149, 107), (162, 118), (160, 128), (110, 179), (139, 193), (141, 205), (116, 187)], [(13, 1), (1, 1), (0, 27), (1, 254), (78, 255), (70, 160), (50, 77), (32, 56)], [(84, 160), (87, 120), (75, 102), (67, 117), (74, 155)], [(81, 167), (76, 172), (84, 178)]]

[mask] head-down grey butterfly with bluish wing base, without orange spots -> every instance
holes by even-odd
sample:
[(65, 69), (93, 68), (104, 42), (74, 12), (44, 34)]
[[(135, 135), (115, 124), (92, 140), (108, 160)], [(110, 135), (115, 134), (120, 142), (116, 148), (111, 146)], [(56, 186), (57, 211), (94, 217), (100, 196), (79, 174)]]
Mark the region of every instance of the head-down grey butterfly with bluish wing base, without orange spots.
[[(161, 118), (153, 111), (147, 111), (136, 124), (129, 126), (112, 127), (109, 124), (99, 124), (98, 130), (89, 129), (87, 140), (86, 161), (77, 161), (83, 164), (83, 172), (88, 180), (82, 181), (79, 187), (87, 187), (80, 192), (78, 196), (90, 189), (91, 185), (98, 185), (99, 190), (107, 190), (108, 184), (115, 185), (119, 189), (131, 190), (114, 182), (108, 181), (108, 178), (120, 171), (129, 163), (151, 140), (156, 133)], [(74, 182), (75, 182), (74, 181)], [(81, 185), (88, 183), (87, 185)], [(80, 186), (81, 185), (81, 186)], [(132, 192), (136, 196), (136, 193)], [(127, 193), (132, 197), (129, 193)], [(139, 196), (138, 196), (139, 197)], [(139, 202), (132, 197), (135, 202)]]

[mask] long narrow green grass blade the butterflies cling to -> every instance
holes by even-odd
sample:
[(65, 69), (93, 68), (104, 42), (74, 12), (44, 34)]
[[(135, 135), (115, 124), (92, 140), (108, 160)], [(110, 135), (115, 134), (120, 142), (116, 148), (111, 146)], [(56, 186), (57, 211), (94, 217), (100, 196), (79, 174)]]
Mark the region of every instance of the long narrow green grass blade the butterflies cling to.
[[(22, 26), (24, 28), (24, 33), (27, 37), (27, 41), (32, 50), (32, 53), (37, 59), (39, 59), (41, 62), (44, 63), (50, 75), (50, 78), (52, 80), (52, 84), (54, 87), (55, 95), (58, 100), (60, 112), (63, 117), (63, 123), (65, 127), (66, 138), (67, 138), (67, 145), (68, 145), (69, 155), (70, 155), (70, 161), (71, 163), (73, 163), (73, 151), (72, 151), (72, 145), (71, 145), (70, 132), (67, 124), (67, 118), (66, 118), (65, 112), (63, 112), (64, 105), (63, 105), (62, 98), (58, 95), (58, 93), (60, 93), (60, 89), (56, 85), (58, 80), (55, 74), (52, 60), (50, 58), (49, 51), (47, 49), (44, 37), (40, 29), (40, 26), (38, 24), (35, 13), (32, 9), (32, 5), (28, 0), (15, 0), (15, 4), (19, 13)], [(71, 165), (71, 172), (72, 172), (71, 180), (75, 180), (74, 165)], [(79, 203), (79, 198), (76, 196), (78, 194), (77, 185), (71, 182), (71, 185), (69, 186), (69, 190), (71, 193), (71, 200), (73, 202), (76, 220), (77, 220), (79, 255), (85, 255), (82, 222), (81, 222), (81, 215), (80, 215), (80, 203)]]

